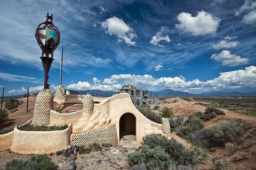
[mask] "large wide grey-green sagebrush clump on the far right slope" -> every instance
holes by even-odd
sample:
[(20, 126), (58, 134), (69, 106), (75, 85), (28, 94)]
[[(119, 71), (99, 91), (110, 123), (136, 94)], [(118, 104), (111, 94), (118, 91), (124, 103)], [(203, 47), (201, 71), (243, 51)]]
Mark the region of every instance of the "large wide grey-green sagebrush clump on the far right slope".
[(239, 139), (251, 127), (252, 123), (242, 119), (223, 121), (208, 129), (190, 134), (190, 139), (204, 147), (223, 146), (225, 142)]

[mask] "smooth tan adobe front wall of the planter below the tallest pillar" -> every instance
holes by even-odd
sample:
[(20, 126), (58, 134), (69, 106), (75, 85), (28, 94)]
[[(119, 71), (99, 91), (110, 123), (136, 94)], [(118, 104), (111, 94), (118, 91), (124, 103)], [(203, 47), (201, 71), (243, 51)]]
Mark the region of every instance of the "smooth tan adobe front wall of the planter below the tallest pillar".
[(62, 150), (70, 145), (72, 125), (60, 131), (20, 131), (14, 128), (11, 151), (23, 154), (43, 154)]

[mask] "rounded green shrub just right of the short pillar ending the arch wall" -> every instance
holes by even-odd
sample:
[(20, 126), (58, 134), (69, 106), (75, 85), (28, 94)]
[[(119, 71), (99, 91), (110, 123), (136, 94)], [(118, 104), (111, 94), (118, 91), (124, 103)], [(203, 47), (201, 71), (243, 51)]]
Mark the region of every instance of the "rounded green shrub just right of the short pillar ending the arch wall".
[(187, 137), (188, 134), (204, 128), (204, 121), (197, 115), (189, 115), (188, 119), (176, 129), (177, 133), (182, 137)]

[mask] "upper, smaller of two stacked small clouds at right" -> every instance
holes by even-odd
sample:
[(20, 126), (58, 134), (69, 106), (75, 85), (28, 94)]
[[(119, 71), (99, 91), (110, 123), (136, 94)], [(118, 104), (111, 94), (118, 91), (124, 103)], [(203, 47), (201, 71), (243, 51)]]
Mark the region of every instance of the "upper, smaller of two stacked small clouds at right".
[(233, 40), (234, 38), (235, 37), (226, 36), (224, 40), (220, 40), (217, 44), (212, 44), (211, 48), (215, 50), (234, 48), (240, 44), (238, 40)]

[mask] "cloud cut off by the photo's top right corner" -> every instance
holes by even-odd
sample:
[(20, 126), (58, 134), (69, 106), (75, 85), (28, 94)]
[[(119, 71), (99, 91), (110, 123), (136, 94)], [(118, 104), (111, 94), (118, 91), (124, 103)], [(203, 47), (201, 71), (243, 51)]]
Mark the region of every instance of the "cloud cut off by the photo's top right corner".
[(256, 1), (246, 0), (235, 12), (235, 16), (242, 16), (242, 23), (256, 25)]

